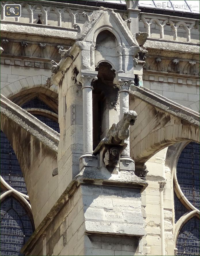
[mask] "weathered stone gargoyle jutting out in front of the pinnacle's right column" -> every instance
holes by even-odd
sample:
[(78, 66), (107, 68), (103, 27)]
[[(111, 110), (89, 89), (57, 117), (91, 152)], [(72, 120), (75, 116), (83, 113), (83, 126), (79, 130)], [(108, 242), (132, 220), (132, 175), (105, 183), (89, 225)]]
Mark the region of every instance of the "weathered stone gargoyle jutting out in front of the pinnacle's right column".
[(121, 144), (123, 145), (125, 139), (129, 137), (129, 126), (134, 125), (137, 119), (137, 113), (133, 110), (124, 113), (123, 118), (117, 123), (113, 124), (104, 138), (106, 144)]

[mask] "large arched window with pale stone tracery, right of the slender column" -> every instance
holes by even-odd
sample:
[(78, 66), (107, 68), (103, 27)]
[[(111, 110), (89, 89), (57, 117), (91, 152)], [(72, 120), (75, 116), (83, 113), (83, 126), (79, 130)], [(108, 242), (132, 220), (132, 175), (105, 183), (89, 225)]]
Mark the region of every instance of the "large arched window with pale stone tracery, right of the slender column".
[[(175, 178), (180, 188), (174, 193), (177, 255), (199, 255), (199, 144), (190, 142), (182, 150)], [(181, 195), (181, 192), (184, 196)], [(181, 201), (178, 199), (181, 198)], [(195, 210), (196, 209), (196, 210)], [(195, 213), (191, 215), (193, 212)], [(188, 220), (189, 218), (189, 220)], [(185, 223), (183, 220), (185, 220)], [(176, 228), (176, 227), (175, 227)]]

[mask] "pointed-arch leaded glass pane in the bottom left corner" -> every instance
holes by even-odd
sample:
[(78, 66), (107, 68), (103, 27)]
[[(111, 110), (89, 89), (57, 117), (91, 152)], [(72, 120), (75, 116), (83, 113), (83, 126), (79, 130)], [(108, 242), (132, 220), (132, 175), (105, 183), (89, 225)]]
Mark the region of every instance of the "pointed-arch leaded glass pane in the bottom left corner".
[(33, 229), (28, 214), (15, 198), (1, 203), (1, 255), (23, 255), (20, 250)]

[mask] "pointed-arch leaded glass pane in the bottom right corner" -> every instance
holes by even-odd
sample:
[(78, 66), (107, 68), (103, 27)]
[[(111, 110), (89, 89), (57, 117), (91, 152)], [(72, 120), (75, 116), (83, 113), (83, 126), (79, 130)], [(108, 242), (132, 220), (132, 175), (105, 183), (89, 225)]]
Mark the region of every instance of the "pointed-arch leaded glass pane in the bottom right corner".
[(177, 255), (199, 255), (199, 219), (193, 217), (180, 230), (177, 238)]

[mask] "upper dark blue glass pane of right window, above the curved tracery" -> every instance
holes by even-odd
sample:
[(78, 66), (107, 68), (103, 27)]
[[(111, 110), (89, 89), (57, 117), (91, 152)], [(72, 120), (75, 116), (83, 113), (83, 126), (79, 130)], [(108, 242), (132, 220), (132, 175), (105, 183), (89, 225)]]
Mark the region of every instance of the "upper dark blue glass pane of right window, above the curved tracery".
[(176, 176), (183, 194), (199, 209), (199, 144), (190, 142), (180, 154)]

